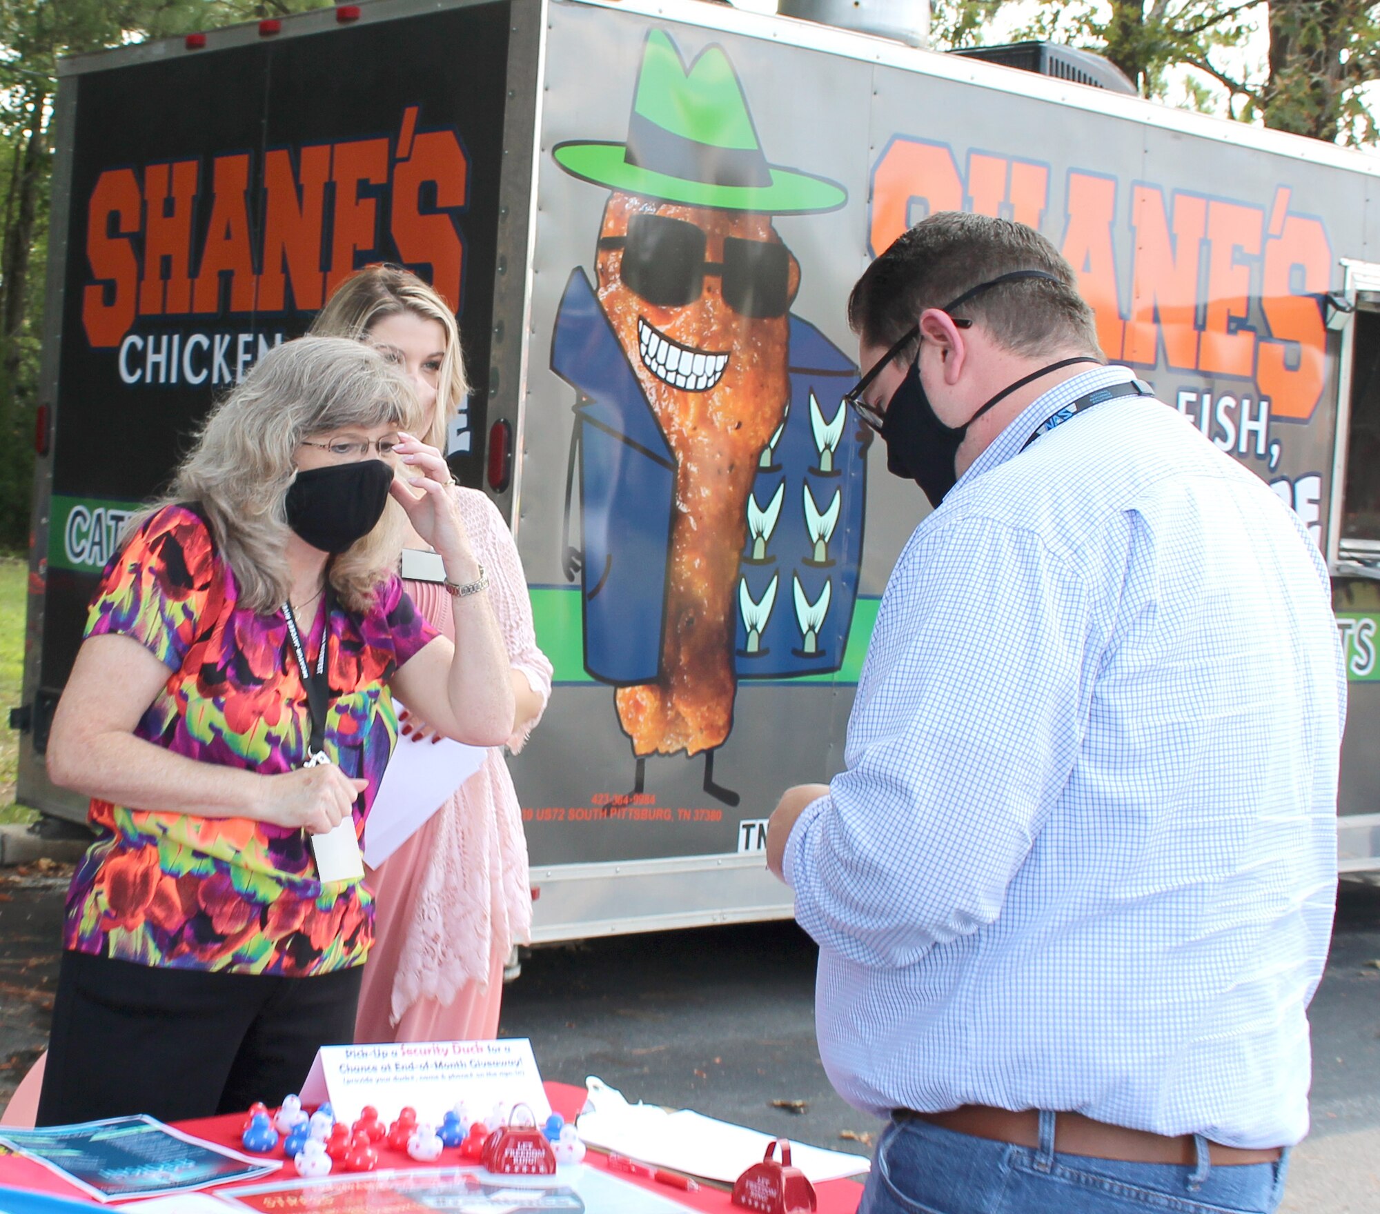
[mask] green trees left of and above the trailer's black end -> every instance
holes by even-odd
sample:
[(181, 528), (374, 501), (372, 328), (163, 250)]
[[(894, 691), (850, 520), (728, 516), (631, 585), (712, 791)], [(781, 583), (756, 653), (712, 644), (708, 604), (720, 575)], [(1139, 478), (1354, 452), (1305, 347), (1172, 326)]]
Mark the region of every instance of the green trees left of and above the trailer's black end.
[(29, 542), (58, 59), (328, 4), (0, 0), (0, 550)]

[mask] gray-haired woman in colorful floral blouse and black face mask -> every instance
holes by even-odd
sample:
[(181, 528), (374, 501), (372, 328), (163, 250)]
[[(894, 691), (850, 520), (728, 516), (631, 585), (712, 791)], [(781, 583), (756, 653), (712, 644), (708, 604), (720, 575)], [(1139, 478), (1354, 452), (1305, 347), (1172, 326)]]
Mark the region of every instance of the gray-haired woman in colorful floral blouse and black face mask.
[[(40, 1124), (279, 1101), (351, 1040), (373, 895), (312, 839), (363, 830), (389, 693), (473, 745), (513, 715), (454, 501), (406, 475), (435, 455), (402, 429), (415, 410), (363, 345), (279, 346), (106, 566), (48, 744), (97, 842), (68, 895)], [(407, 524), (444, 563), (454, 644), (399, 582)]]

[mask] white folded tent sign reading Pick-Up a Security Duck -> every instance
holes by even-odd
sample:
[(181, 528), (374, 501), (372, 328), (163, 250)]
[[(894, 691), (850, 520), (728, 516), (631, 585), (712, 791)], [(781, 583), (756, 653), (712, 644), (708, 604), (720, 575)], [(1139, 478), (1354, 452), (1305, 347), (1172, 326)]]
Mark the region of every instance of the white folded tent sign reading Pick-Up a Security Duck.
[(355, 1122), (364, 1105), (386, 1123), (403, 1105), (439, 1126), (464, 1101), (476, 1120), (495, 1104), (527, 1105), (542, 1124), (551, 1105), (526, 1037), (498, 1042), (396, 1042), (322, 1046), (302, 1086), (302, 1104), (328, 1099), (335, 1119)]

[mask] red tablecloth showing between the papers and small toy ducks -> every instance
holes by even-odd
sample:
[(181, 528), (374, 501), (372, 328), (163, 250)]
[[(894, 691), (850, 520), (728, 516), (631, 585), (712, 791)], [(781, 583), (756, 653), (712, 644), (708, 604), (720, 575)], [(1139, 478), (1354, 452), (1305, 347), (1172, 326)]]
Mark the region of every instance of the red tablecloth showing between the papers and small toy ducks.
[[(551, 1101), (551, 1106), (558, 1113), (570, 1122), (574, 1120), (575, 1113), (580, 1112), (581, 1105), (585, 1102), (585, 1090), (582, 1087), (574, 1087), (569, 1083), (548, 1083), (546, 1099)], [(243, 1113), (230, 1113), (224, 1117), (203, 1117), (197, 1122), (179, 1122), (178, 1128), (185, 1130), (188, 1134), (195, 1134), (197, 1138), (204, 1138), (207, 1142), (217, 1142), (222, 1146), (232, 1146), (236, 1151), (241, 1151), (240, 1127), (243, 1124)], [(598, 1151), (591, 1151), (585, 1157), (585, 1162), (593, 1164), (595, 1167), (607, 1170), (604, 1156)], [(379, 1144), (378, 1166), (379, 1168), (415, 1167), (413, 1160), (408, 1159), (404, 1152), (389, 1151), (384, 1144)], [(290, 1180), (294, 1175), (295, 1173), (293, 1171), (293, 1167), (288, 1166), (284, 1171), (270, 1177), (264, 1177), (262, 1180), (254, 1181), (254, 1184), (272, 1184), (276, 1180)], [(737, 1208), (729, 1202), (727, 1192), (711, 1188), (709, 1185), (704, 1185), (697, 1193), (682, 1193), (679, 1189), (658, 1185), (656, 1181), (644, 1181), (638, 1177), (627, 1175), (624, 1175), (622, 1180), (627, 1180), (629, 1184), (651, 1189), (662, 1197), (671, 1197), (675, 1202), (680, 1202), (691, 1210), (729, 1211)], [(46, 1167), (21, 1156), (0, 1156), (0, 1185), (10, 1185), (17, 1189), (32, 1189), (39, 1193), (57, 1193), (62, 1197), (81, 1197), (81, 1195), (72, 1185), (54, 1175)], [(225, 1189), (230, 1188), (235, 1186), (225, 1186)], [(820, 1199), (818, 1214), (856, 1214), (858, 1202), (862, 1199), (862, 1186), (857, 1181), (851, 1180), (825, 1181), (824, 1184), (816, 1186), (816, 1195)], [(102, 1207), (94, 1206), (92, 1208)], [(119, 1210), (120, 1207), (106, 1206), (103, 1208)], [(598, 1211), (595, 1211), (595, 1214), (598, 1214)]]

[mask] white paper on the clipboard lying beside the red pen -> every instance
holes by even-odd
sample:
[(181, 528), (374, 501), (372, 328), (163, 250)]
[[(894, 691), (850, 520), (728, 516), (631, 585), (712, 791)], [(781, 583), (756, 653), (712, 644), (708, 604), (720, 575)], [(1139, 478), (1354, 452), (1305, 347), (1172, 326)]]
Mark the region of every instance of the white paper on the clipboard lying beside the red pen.
[[(773, 1138), (690, 1109), (668, 1112), (657, 1105), (631, 1105), (622, 1093), (593, 1076), (585, 1086), (589, 1099), (575, 1123), (580, 1137), (591, 1146), (617, 1151), (657, 1167), (733, 1184), (753, 1163), (762, 1162)], [(791, 1162), (811, 1184), (858, 1175), (871, 1167), (862, 1155), (799, 1142), (791, 1142)]]

